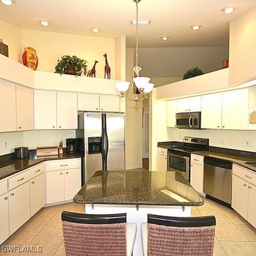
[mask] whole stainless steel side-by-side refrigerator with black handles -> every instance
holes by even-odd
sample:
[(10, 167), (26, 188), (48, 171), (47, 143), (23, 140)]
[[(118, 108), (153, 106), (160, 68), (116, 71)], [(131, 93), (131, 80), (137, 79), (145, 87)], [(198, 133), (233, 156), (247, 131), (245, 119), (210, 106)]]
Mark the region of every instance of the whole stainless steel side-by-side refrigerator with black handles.
[(83, 154), (82, 182), (99, 170), (125, 170), (122, 113), (79, 112), (77, 150)]

